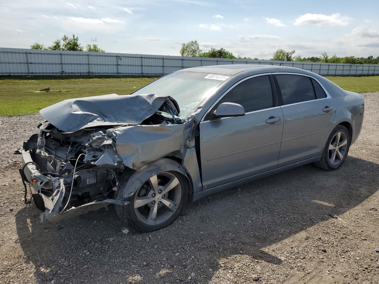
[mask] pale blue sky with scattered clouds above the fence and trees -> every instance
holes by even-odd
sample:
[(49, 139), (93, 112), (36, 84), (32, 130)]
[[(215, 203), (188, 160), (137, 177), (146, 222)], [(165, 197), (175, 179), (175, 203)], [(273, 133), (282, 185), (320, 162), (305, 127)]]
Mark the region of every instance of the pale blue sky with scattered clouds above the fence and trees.
[(179, 55), (196, 39), (203, 51), (224, 47), (269, 59), (278, 48), (296, 55), (379, 56), (379, 0), (2, 1), (0, 47), (50, 45), (75, 33), (107, 52)]

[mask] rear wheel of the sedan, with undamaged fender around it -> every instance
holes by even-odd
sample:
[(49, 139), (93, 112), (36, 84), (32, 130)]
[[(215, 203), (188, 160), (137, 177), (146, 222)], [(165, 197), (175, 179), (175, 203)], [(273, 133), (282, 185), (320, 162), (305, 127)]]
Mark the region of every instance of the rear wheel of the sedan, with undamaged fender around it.
[(320, 161), (314, 164), (320, 169), (337, 170), (348, 156), (350, 143), (349, 131), (345, 126), (337, 125), (327, 139)]

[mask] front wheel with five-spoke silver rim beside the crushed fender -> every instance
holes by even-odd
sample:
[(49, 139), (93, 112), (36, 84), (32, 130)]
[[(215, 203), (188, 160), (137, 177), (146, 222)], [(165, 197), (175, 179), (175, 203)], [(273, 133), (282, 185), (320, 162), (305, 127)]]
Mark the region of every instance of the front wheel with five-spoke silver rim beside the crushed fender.
[[(125, 188), (132, 175), (133, 171), (128, 170), (122, 175), (119, 181), (121, 189)], [(116, 212), (135, 231), (157, 231), (171, 225), (179, 217), (187, 202), (188, 191), (188, 182), (182, 173), (163, 171), (148, 178), (128, 197), (129, 204), (116, 205)]]

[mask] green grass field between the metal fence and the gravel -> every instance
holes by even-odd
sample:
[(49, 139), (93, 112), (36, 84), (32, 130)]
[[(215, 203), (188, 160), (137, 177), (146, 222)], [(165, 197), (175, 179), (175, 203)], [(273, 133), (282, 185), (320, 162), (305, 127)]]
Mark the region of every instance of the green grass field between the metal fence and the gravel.
[[(326, 78), (347, 91), (379, 91), (379, 76)], [(67, 98), (127, 95), (153, 80), (155, 78), (113, 76), (0, 77), (0, 116), (34, 114)], [(47, 87), (55, 92), (35, 92)]]

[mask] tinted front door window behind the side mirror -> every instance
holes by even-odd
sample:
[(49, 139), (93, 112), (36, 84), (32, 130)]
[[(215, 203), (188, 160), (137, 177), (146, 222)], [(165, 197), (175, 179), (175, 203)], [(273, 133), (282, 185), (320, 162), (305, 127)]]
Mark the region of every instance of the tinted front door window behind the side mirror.
[(247, 79), (230, 90), (218, 103), (238, 103), (245, 112), (273, 107), (270, 78), (259, 76)]

